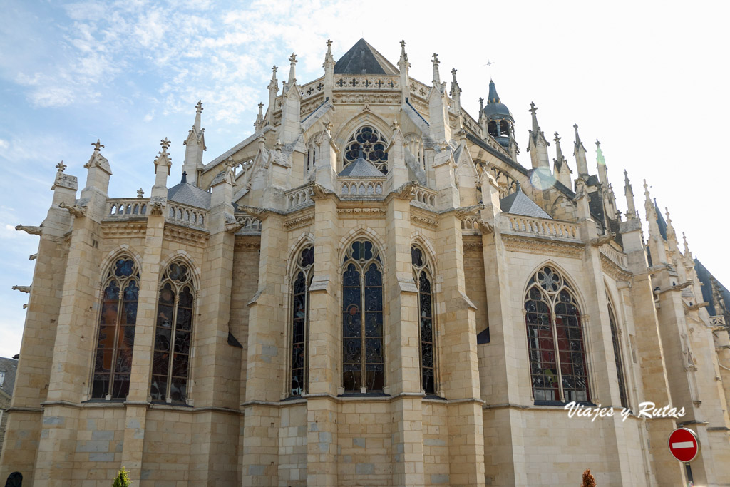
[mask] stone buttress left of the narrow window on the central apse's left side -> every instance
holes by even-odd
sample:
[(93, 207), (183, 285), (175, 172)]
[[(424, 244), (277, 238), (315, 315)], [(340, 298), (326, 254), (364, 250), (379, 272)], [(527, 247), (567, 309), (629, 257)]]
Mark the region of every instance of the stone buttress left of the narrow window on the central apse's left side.
[(283, 218), (261, 218), (258, 291), (249, 303), (248, 363), (244, 410), (242, 485), (277, 485), (278, 428), (286, 363), (285, 283), (288, 256)]

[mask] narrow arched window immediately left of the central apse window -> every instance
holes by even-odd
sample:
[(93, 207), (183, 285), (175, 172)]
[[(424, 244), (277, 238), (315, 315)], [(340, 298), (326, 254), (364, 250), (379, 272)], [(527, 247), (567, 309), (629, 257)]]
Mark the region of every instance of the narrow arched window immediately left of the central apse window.
[(310, 334), (310, 284), (315, 249), (304, 248), (296, 258), (291, 299), (291, 396), (307, 390), (307, 346)]

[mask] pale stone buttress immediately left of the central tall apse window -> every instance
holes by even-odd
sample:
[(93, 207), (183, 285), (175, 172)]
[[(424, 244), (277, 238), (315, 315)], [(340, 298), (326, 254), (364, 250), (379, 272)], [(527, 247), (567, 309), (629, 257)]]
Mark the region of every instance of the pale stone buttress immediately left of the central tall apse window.
[(337, 395), (342, 383), (339, 219), (334, 199), (315, 199), (315, 264), (310, 285), (307, 485), (336, 487)]

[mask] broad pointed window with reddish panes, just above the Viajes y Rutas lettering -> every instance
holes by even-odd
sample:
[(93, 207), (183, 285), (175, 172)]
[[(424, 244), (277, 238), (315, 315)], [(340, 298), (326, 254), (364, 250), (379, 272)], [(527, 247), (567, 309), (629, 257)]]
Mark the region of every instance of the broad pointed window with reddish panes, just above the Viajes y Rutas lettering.
[(531, 277), (525, 298), (532, 393), (536, 401), (588, 401), (580, 310), (569, 283), (553, 267)]

